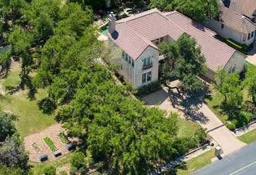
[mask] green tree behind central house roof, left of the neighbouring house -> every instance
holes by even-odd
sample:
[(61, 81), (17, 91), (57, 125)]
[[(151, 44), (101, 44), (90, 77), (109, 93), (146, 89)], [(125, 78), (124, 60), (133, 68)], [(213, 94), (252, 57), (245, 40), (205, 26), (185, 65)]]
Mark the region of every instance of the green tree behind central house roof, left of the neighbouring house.
[(160, 11), (176, 10), (202, 24), (218, 14), (218, 0), (151, 0), (149, 7)]

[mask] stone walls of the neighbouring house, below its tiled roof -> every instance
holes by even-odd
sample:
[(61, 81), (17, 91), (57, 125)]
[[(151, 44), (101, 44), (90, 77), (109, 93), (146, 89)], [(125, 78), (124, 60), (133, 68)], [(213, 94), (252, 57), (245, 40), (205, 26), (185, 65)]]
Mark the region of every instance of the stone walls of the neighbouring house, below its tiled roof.
[[(239, 43), (244, 43), (246, 45), (250, 45), (251, 43), (253, 43), (253, 41), (255, 39), (255, 37), (251, 37), (251, 39), (248, 40), (248, 34), (246, 34), (246, 39), (245, 39), (245, 41), (243, 41), (243, 34), (241, 32), (238, 32), (237, 30), (234, 30), (225, 25), (222, 28), (222, 23), (218, 22), (216, 20), (210, 20), (206, 24), (206, 26), (207, 26), (207, 28), (210, 28), (214, 32), (217, 32), (221, 37), (224, 37), (226, 39), (231, 38)], [(256, 26), (255, 26), (255, 30), (256, 30)], [(251, 31), (249, 31), (249, 33), (250, 34), (252, 32), (254, 33), (255, 30), (251, 30)]]

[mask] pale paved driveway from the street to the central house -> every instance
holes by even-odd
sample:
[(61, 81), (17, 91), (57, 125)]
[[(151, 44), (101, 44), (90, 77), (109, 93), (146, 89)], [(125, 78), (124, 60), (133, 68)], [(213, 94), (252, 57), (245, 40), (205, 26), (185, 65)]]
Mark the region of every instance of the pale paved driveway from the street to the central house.
[(167, 111), (168, 114), (171, 111), (178, 112), (182, 118), (199, 122), (203, 128), (207, 128), (208, 134), (222, 147), (224, 155), (246, 145), (237, 139), (205, 105), (204, 97), (208, 91), (207, 84), (203, 89), (192, 94), (181, 93), (177, 84), (178, 80), (160, 91), (143, 97), (143, 101), (149, 106), (160, 103), (159, 109)]

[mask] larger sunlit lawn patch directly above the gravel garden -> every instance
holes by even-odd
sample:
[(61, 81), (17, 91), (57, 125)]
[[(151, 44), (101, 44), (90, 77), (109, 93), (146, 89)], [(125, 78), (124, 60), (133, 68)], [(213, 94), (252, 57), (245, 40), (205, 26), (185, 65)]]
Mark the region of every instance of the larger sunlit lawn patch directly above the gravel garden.
[(54, 120), (53, 114), (43, 114), (38, 109), (37, 101), (47, 97), (47, 95), (47, 89), (40, 89), (34, 101), (27, 99), (24, 93), (7, 95), (8, 100), (2, 101), (1, 107), (4, 111), (10, 111), (18, 116), (15, 126), (21, 136), (25, 137), (30, 134), (42, 132), (49, 126), (57, 123)]

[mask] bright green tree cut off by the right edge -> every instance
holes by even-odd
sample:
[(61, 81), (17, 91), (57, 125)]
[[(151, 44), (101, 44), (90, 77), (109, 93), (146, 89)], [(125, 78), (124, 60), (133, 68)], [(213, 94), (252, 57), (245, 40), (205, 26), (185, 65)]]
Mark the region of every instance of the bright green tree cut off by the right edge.
[(245, 73), (245, 80), (243, 81), (245, 86), (249, 87), (249, 95), (253, 99), (253, 103), (256, 106), (256, 66), (251, 65), (247, 68)]

